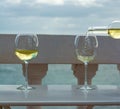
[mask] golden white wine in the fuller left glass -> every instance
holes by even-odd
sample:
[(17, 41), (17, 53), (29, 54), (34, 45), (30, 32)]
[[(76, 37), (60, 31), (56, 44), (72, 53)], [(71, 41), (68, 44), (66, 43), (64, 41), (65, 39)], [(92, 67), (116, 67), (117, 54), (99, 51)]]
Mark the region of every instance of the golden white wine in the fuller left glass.
[(15, 54), (20, 60), (26, 61), (35, 58), (38, 55), (38, 50), (16, 49)]

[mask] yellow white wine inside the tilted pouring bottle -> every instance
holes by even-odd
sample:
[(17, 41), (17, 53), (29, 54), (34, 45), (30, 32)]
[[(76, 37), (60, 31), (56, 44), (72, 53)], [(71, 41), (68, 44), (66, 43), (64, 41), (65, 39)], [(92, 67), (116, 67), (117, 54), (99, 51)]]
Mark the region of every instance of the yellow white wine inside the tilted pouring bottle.
[(120, 39), (120, 28), (110, 28), (108, 34), (114, 39)]

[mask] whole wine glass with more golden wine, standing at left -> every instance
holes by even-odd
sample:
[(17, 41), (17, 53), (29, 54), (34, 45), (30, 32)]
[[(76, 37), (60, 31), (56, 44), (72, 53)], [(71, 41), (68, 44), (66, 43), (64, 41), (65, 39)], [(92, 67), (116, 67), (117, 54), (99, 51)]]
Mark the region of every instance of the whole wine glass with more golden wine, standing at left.
[(18, 34), (15, 38), (15, 54), (25, 63), (25, 85), (18, 87), (20, 90), (30, 90), (28, 85), (28, 63), (38, 55), (38, 37), (35, 34)]

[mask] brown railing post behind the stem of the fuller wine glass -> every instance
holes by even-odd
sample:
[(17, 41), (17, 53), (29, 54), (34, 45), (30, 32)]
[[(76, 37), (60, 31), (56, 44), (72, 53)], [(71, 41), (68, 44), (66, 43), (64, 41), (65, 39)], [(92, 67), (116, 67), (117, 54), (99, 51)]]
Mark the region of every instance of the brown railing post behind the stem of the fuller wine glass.
[[(24, 64), (22, 64), (22, 68), (24, 73), (25, 72)], [(30, 85), (42, 84), (42, 79), (46, 75), (47, 70), (48, 70), (48, 64), (29, 64), (28, 65), (28, 83)], [(27, 109), (41, 109), (41, 107), (27, 106)]]

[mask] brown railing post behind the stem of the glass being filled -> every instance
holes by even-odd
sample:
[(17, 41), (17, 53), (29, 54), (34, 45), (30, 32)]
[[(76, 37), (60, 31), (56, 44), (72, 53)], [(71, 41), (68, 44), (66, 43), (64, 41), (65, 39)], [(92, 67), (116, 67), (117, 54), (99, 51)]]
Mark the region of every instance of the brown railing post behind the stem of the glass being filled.
[[(72, 70), (74, 76), (77, 78), (78, 84), (84, 84), (85, 70), (83, 64), (72, 64)], [(98, 70), (98, 64), (89, 64), (88, 65), (88, 84), (92, 83), (92, 78), (96, 75)], [(77, 109), (93, 109), (94, 106), (79, 106)]]

